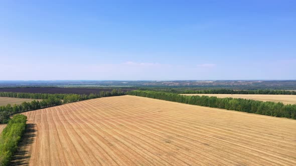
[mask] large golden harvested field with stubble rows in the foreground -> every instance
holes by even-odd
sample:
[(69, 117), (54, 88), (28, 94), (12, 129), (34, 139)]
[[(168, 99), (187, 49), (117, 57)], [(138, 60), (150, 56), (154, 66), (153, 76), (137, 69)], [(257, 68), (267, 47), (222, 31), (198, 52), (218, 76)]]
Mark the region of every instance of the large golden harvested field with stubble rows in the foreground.
[(130, 95), (23, 114), (30, 165), (296, 165), (287, 118)]

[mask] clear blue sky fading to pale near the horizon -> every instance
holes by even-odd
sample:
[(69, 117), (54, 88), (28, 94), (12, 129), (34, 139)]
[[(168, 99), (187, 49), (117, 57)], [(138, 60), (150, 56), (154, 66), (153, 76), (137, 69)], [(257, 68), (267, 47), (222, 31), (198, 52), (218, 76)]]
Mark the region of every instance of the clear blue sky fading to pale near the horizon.
[(1, 0), (0, 79), (296, 79), (296, 0)]

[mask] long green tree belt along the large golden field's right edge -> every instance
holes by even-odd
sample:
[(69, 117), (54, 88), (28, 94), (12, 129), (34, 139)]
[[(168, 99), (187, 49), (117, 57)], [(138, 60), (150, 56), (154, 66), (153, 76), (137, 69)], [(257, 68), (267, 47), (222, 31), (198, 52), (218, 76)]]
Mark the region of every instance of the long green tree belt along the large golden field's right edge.
[(249, 113), (264, 114), (277, 117), (296, 119), (296, 104), (283, 104), (281, 102), (257, 101), (243, 98), (218, 98), (215, 96), (186, 96), (172, 92), (133, 90), (127, 94), (143, 97), (176, 101), (200, 106), (238, 110)]

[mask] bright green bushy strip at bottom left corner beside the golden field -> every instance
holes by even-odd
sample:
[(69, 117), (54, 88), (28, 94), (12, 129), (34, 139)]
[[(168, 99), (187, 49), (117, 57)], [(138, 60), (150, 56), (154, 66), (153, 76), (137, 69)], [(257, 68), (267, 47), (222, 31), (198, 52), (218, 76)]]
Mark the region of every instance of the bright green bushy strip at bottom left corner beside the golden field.
[(8, 165), (26, 129), (27, 116), (18, 114), (9, 120), (0, 136), (0, 165)]

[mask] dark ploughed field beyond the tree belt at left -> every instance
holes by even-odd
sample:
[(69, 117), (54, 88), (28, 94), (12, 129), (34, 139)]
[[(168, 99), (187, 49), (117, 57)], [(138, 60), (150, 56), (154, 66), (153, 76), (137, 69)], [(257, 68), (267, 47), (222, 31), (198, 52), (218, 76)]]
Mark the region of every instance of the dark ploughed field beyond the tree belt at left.
[[(11, 92), (27, 92), (27, 93), (75, 93), (90, 94), (100, 93), (101, 91), (112, 91), (114, 88), (62, 88), (62, 87), (16, 87), (16, 88), (0, 88), (0, 91)], [(132, 90), (129, 88), (121, 89), (123, 92)]]

